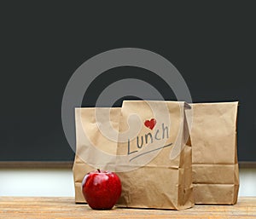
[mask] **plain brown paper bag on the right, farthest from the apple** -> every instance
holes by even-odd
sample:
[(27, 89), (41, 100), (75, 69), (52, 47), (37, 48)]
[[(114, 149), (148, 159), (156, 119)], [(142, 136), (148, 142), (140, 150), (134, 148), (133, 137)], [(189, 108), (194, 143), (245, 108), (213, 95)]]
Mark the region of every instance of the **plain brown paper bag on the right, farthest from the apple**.
[(238, 102), (191, 106), (195, 204), (234, 205), (239, 188), (236, 151)]

